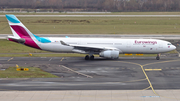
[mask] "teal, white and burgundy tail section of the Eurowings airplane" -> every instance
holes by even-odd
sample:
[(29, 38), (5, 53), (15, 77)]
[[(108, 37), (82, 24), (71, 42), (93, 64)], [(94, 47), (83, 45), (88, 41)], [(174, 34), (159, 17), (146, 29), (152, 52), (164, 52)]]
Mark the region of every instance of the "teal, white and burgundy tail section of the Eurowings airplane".
[[(14, 36), (8, 36), (8, 40), (22, 43), (33, 48), (41, 49), (39, 47), (38, 39), (40, 37), (32, 34), (14, 15), (6, 15), (9, 26)], [(40, 39), (41, 40), (41, 39)]]

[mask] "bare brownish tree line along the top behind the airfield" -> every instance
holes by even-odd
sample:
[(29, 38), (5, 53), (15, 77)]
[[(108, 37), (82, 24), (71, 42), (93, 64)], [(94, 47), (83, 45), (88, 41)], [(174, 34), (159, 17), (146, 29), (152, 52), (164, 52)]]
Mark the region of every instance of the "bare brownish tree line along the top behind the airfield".
[(180, 0), (0, 0), (0, 7), (59, 11), (180, 11)]

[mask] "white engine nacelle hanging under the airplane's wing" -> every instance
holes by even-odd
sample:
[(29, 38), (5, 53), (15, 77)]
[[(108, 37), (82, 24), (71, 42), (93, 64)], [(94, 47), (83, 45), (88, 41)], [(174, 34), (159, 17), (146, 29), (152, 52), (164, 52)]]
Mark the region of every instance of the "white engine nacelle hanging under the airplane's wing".
[(99, 53), (100, 57), (110, 58), (110, 59), (118, 59), (119, 51), (117, 50), (107, 50)]

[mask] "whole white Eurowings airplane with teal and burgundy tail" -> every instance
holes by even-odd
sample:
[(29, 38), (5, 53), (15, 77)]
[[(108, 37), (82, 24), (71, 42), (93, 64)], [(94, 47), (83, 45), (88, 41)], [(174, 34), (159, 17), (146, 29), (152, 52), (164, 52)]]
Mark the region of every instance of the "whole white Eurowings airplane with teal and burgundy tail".
[(71, 38), (39, 37), (31, 33), (15, 15), (6, 15), (13, 36), (9, 41), (51, 52), (88, 54), (85, 60), (94, 60), (94, 55), (118, 59), (119, 54), (157, 54), (176, 49), (168, 41), (158, 39), (121, 39), (121, 38)]

